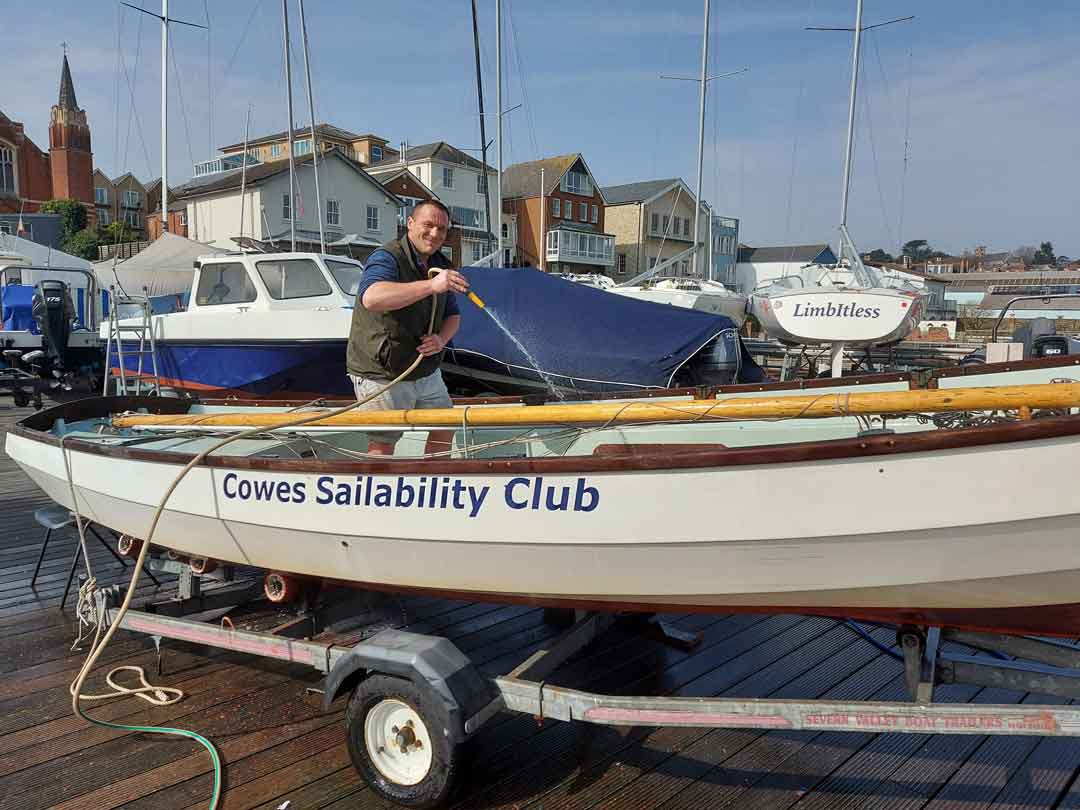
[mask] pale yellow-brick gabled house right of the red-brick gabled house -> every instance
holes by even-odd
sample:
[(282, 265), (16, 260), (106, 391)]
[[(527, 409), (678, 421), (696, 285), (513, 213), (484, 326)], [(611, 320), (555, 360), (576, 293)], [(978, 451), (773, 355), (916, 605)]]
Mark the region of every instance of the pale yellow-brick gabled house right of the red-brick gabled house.
[[(694, 194), (678, 177), (605, 186), (604, 198), (607, 229), (616, 235), (615, 279), (625, 281), (639, 275), (693, 246)], [(739, 227), (738, 220), (730, 217), (715, 217), (712, 227), (714, 240), (729, 260), (718, 260), (723, 257), (714, 251), (714, 267), (705, 267), (711, 216), (708, 206), (702, 203), (698, 226), (702, 251), (697, 270), (692, 257), (685, 256), (663, 275), (693, 273), (717, 279), (717, 267), (723, 267), (725, 273), (733, 270)]]

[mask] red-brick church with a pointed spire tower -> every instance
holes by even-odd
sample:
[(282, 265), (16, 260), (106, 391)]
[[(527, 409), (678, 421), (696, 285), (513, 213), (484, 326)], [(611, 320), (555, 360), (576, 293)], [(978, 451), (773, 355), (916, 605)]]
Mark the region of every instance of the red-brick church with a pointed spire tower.
[(48, 200), (84, 203), (91, 222), (94, 168), (90, 124), (79, 108), (65, 54), (59, 94), (50, 113), (49, 152), (26, 136), (22, 122), (0, 112), (0, 213), (33, 213)]

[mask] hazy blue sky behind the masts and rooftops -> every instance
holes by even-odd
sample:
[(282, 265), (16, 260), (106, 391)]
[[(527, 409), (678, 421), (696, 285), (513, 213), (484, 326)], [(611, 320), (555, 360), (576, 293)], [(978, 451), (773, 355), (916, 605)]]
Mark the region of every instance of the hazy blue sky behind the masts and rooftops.
[[(478, 5), (491, 110), (495, 3)], [(111, 175), (159, 175), (156, 21), (111, 0), (93, 13), (75, 0), (15, 6), (0, 32), (0, 110), (48, 146), (66, 40), (95, 164)], [(659, 77), (697, 75), (702, 6), (504, 0), (504, 105), (524, 104), (505, 119), (505, 163), (580, 151), (600, 185), (681, 176), (692, 188), (698, 86)], [(392, 144), (480, 145), (465, 0), (307, 0), (306, 11), (320, 120)], [(289, 12), (302, 68), (295, 0)], [(283, 130), (286, 112), (280, 0), (172, 0), (170, 14), (211, 24), (208, 37), (173, 27), (172, 184), (215, 147), (242, 139), (248, 104), (254, 134)], [(912, 14), (864, 37), (855, 242), (895, 251), (900, 239), (927, 239), (959, 252), (1051, 240), (1080, 256), (1075, 0), (866, 0), (864, 24)], [(750, 72), (710, 84), (704, 195), (742, 220), (745, 242), (836, 243), (851, 36), (804, 28), (849, 26), (853, 15), (849, 0), (712, 2), (710, 71)], [(294, 82), (296, 118), (306, 122), (299, 70)]]

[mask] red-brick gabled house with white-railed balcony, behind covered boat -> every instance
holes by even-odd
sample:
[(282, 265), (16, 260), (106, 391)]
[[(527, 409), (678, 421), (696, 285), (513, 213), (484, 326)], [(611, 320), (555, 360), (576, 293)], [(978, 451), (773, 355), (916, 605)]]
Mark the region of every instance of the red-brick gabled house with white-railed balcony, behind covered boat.
[(508, 167), (502, 205), (516, 220), (518, 264), (568, 273), (615, 267), (615, 234), (604, 229), (607, 200), (580, 153)]

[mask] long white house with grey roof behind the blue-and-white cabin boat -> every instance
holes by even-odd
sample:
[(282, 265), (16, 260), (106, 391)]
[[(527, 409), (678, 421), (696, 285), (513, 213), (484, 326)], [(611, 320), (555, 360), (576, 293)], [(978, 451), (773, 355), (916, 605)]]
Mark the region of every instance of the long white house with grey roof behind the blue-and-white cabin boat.
[[(310, 154), (296, 160), (296, 199), (288, 195), (288, 162), (274, 161), (208, 174), (175, 189), (187, 204), (188, 235), (215, 247), (235, 249), (240, 238), (271, 242), (282, 249), (296, 225), (297, 242), (319, 244), (319, 206)], [(241, 183), (244, 185), (241, 201)], [(360, 163), (338, 150), (319, 161), (323, 232), (327, 244), (347, 240), (361, 255), (397, 235), (402, 200), (387, 191)], [(243, 221), (241, 221), (243, 216)], [(318, 247), (316, 247), (318, 249)]]

